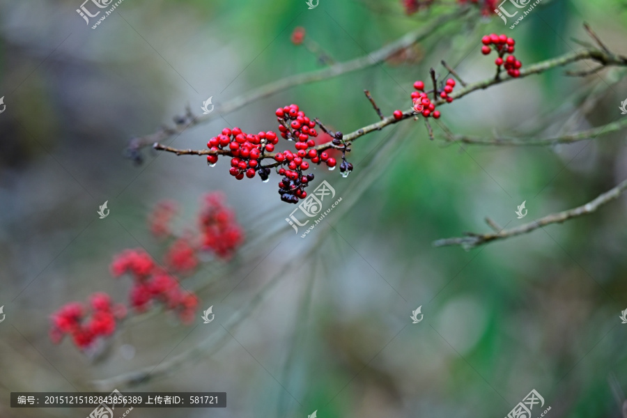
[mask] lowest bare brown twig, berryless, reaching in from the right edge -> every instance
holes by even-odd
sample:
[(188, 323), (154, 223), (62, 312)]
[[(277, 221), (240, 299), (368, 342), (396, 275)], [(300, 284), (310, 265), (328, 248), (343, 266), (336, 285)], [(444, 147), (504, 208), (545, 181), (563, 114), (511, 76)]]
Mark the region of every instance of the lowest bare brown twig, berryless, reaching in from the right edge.
[(573, 219), (575, 217), (580, 217), (582, 215), (588, 215), (589, 213), (594, 212), (601, 206), (617, 199), (618, 196), (621, 195), (627, 189), (627, 180), (623, 180), (619, 185), (613, 187), (607, 192), (600, 194), (596, 199), (586, 203), (585, 205), (578, 206), (577, 208), (564, 210), (563, 212), (552, 213), (545, 217), (541, 217), (540, 219), (536, 219), (533, 222), (529, 222), (527, 224), (522, 224), (512, 229), (505, 229), (495, 233), (486, 233), (486, 234), (477, 234), (477, 233), (465, 233), (465, 237), (461, 238), (446, 238), (444, 240), (437, 240), (433, 242), (435, 247), (444, 247), (446, 245), (461, 245), (464, 249), (472, 249), (474, 247), (478, 247), (479, 245), (486, 244), (488, 242), (493, 242), (496, 240), (504, 240), (506, 238), (511, 238), (516, 235), (522, 235), (524, 233), (529, 233), (535, 231), (536, 229), (542, 228), (545, 225), (549, 224), (561, 224), (562, 222), (567, 221), (568, 219)]

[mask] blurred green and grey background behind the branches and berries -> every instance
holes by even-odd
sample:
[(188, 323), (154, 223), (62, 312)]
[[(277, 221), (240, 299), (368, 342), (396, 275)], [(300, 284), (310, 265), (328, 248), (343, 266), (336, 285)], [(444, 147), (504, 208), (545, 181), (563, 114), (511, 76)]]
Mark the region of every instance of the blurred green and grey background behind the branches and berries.
[[(97, 29), (77, 1), (0, 1), (0, 417), (79, 417), (91, 408), (15, 409), (10, 392), (226, 392), (226, 409), (139, 409), (133, 417), (505, 417), (532, 389), (532, 416), (622, 417), (627, 391), (627, 199), (587, 217), (465, 251), (433, 247), (464, 231), (511, 228), (580, 206), (627, 178), (624, 132), (575, 144), (447, 144), (435, 124), (405, 121), (355, 141), (348, 178), (316, 167), (342, 198), (305, 238), (279, 176), (236, 181), (229, 163), (136, 150), (133, 138), (173, 126), (254, 88), (320, 70), (291, 42), (302, 26), (334, 62), (374, 52), (460, 9), (403, 2), (125, 0)], [(409, 2), (411, 3), (411, 2)], [(470, 3), (470, 2), (469, 2)], [(203, 149), (224, 127), (276, 130), (297, 103), (335, 130), (410, 107), (412, 84), (444, 59), (466, 82), (494, 74), (481, 36), (505, 31), (525, 65), (591, 42), (588, 22), (627, 54), (626, 4), (543, 0), (514, 29), (478, 7), (385, 62), (250, 100), (164, 141)], [(91, 6), (93, 8), (93, 6)], [(93, 19), (95, 21), (95, 19)], [(594, 63), (577, 63), (589, 70)], [(566, 77), (564, 68), (477, 91), (442, 106), (456, 134), (551, 137), (618, 121), (622, 68)], [(458, 87), (460, 88), (459, 84)], [(285, 144), (279, 143), (279, 149)], [(242, 226), (230, 261), (206, 256), (182, 278), (199, 297), (192, 325), (159, 309), (130, 318), (100, 353), (55, 345), (49, 316), (97, 291), (127, 302), (111, 278), (124, 249), (156, 259), (146, 217), (177, 201), (173, 230), (197, 226), (199, 201), (221, 191)], [(99, 219), (108, 202), (110, 215)], [(515, 210), (526, 201), (528, 216)], [(201, 311), (213, 306), (215, 320)], [(424, 320), (412, 324), (421, 307)], [(152, 371), (140, 385), (118, 378)], [(95, 382), (100, 382), (98, 385)]]

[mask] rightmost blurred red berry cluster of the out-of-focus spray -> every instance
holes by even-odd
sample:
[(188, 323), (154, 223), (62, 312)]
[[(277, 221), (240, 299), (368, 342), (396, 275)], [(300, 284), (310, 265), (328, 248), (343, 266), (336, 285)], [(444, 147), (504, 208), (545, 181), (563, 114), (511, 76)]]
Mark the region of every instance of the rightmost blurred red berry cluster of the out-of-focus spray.
[(203, 196), (199, 224), (203, 249), (228, 260), (242, 245), (244, 232), (235, 219), (235, 212), (224, 200), (224, 194), (218, 192)]

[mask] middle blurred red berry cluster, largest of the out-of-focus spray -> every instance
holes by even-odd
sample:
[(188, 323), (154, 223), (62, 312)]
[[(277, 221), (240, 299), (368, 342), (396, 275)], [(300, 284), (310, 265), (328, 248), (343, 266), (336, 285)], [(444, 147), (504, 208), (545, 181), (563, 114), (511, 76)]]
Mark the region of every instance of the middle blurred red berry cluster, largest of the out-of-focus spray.
[(151, 302), (161, 302), (168, 310), (176, 311), (181, 322), (192, 323), (198, 299), (180, 287), (175, 277), (156, 265), (143, 249), (127, 249), (111, 263), (114, 277), (130, 273), (134, 279), (130, 304), (137, 312), (144, 312)]

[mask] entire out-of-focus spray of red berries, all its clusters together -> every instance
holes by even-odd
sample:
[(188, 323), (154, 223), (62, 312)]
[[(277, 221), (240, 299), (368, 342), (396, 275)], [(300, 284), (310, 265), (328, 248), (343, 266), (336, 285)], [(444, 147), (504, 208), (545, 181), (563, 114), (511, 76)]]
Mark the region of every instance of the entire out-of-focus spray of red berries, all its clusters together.
[[(244, 233), (235, 219), (235, 212), (226, 206), (221, 193), (203, 196), (198, 235), (185, 233), (181, 237), (174, 237), (170, 221), (177, 210), (176, 202), (162, 201), (148, 215), (148, 226), (156, 238), (175, 238), (164, 254), (163, 266), (144, 249), (126, 249), (114, 256), (110, 271), (115, 278), (123, 275), (132, 277), (129, 299), (134, 311), (144, 312), (160, 304), (165, 310), (176, 314), (182, 323), (190, 324), (194, 322), (199, 300), (194, 293), (180, 286), (174, 273), (194, 272), (200, 264), (200, 250), (210, 251), (218, 258), (228, 260), (242, 245)], [(59, 343), (65, 334), (70, 334), (75, 345), (83, 350), (99, 337), (113, 334), (116, 321), (127, 313), (123, 304), (112, 306), (111, 297), (107, 293), (94, 293), (90, 306), (88, 310), (79, 302), (70, 302), (52, 314), (52, 341)]]

